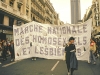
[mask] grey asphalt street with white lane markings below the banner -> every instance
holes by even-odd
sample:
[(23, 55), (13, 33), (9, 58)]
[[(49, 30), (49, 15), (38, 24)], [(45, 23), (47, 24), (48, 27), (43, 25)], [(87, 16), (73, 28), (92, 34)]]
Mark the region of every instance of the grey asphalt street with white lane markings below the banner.
[[(74, 75), (100, 75), (100, 58), (97, 59), (96, 65), (88, 64), (86, 61), (78, 63), (79, 67)], [(7, 61), (0, 64), (0, 75), (67, 75), (67, 67), (63, 60), (37, 58), (32, 61), (29, 58), (10, 62), (8, 57)]]

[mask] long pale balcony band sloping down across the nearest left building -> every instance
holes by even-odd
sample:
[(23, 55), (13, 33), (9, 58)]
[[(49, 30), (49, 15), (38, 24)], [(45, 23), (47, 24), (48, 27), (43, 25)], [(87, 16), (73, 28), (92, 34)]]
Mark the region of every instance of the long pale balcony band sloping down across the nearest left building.
[(26, 15), (20, 13), (20, 12), (19, 12), (18, 10), (16, 10), (16, 9), (13, 9), (12, 7), (10, 7), (9, 5), (5, 4), (5, 3), (2, 2), (2, 1), (0, 1), (0, 10), (6, 12), (6, 13), (8, 13), (8, 14), (14, 15), (14, 16), (16, 16), (16, 17), (20, 17), (20, 18), (22, 18), (22, 19), (24, 19), (24, 20), (26, 20), (26, 21), (31, 21), (31, 19), (30, 19), (28, 16), (26, 16)]

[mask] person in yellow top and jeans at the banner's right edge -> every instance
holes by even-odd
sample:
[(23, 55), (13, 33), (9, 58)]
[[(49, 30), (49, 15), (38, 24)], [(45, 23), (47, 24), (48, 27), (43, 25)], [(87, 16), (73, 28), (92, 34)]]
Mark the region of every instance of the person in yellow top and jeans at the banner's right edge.
[(90, 39), (90, 56), (89, 56), (89, 63), (96, 64), (96, 58), (94, 53), (96, 52), (96, 43), (94, 42), (94, 39)]

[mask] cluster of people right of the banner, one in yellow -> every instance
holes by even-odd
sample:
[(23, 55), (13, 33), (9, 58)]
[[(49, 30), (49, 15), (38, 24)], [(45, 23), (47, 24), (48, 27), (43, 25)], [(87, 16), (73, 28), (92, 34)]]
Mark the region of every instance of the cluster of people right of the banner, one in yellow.
[(100, 38), (91, 38), (90, 39), (90, 56), (89, 62), (96, 64), (96, 58), (100, 55)]

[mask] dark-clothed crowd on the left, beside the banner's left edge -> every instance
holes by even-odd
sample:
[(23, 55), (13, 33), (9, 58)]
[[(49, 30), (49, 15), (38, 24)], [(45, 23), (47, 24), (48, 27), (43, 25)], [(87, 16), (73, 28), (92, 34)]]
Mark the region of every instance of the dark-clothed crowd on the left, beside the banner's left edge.
[[(0, 56), (3, 61), (7, 60), (7, 55), (11, 56), (11, 61), (14, 61), (14, 42), (13, 40), (9, 41), (8, 38), (6, 40), (0, 39)], [(0, 61), (1, 64), (1, 61)]]

